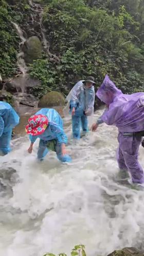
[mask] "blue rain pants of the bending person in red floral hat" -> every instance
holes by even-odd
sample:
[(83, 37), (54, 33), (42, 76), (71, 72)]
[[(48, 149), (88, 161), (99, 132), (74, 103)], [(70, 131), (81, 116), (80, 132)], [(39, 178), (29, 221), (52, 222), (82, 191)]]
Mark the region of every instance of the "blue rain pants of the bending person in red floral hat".
[[(43, 160), (43, 158), (47, 155), (47, 153), (49, 152), (48, 148), (47, 148), (47, 142), (48, 141), (44, 141), (44, 140), (40, 140), (39, 142), (39, 149), (38, 149), (38, 159), (39, 160)], [(62, 149), (61, 149), (61, 143), (56, 140), (56, 153), (57, 153), (57, 158), (65, 163), (65, 162), (71, 162), (71, 158), (68, 155), (62, 155)]]

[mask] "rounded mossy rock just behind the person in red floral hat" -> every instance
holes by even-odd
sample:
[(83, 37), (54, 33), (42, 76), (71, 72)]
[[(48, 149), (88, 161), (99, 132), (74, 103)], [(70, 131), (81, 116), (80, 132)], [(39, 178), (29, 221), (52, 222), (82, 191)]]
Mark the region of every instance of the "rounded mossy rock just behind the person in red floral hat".
[(60, 92), (49, 92), (39, 101), (39, 108), (64, 106), (65, 98)]

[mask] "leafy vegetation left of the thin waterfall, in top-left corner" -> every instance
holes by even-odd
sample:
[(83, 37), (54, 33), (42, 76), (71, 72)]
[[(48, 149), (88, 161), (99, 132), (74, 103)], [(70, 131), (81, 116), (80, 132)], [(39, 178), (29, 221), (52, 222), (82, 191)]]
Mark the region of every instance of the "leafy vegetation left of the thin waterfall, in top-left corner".
[[(8, 79), (17, 73), (17, 49), (20, 38), (12, 22), (22, 22), (28, 11), (27, 1), (0, 0), (0, 74)], [(25, 10), (25, 11), (24, 11)]]

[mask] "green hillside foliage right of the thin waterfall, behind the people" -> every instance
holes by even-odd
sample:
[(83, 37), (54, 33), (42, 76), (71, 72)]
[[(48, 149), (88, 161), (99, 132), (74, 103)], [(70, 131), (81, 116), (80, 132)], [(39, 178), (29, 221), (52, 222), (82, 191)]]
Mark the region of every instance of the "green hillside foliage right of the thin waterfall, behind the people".
[(125, 93), (143, 90), (144, 52), (134, 8), (126, 0), (45, 0), (43, 24), (50, 52), (60, 61), (45, 57), (31, 65), (30, 74), (41, 80), (36, 96), (65, 92), (87, 75), (95, 77), (97, 89), (106, 73)]

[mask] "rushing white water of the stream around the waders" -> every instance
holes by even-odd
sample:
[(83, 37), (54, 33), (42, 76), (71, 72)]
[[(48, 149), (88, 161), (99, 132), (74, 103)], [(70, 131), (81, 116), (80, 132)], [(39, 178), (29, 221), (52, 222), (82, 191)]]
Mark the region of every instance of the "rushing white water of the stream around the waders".
[[(70, 123), (68, 117), (69, 138)], [(16, 181), (9, 182), (13, 193), (8, 185), (1, 191), (0, 255), (69, 254), (79, 243), (86, 246), (87, 255), (142, 247), (144, 192), (119, 181), (116, 136), (115, 128), (102, 125), (77, 144), (70, 140), (69, 164), (59, 162), (53, 152), (39, 163), (38, 143), (28, 155), (27, 136), (12, 142), (13, 151), (1, 157), (1, 169), (14, 168)], [(143, 155), (140, 148), (141, 163)]]

